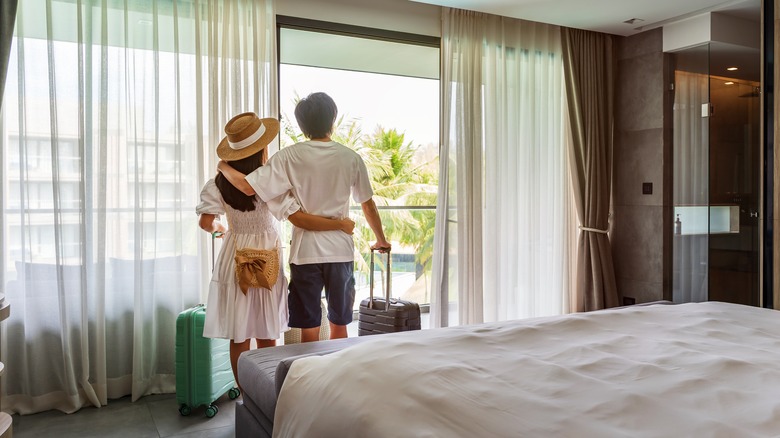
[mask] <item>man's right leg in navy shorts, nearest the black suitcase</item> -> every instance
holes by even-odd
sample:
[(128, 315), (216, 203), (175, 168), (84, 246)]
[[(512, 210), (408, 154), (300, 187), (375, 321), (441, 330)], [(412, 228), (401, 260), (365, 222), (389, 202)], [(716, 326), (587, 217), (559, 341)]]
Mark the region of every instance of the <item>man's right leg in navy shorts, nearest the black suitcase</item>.
[(330, 339), (347, 337), (347, 325), (352, 322), (355, 304), (354, 268), (354, 262), (323, 263)]

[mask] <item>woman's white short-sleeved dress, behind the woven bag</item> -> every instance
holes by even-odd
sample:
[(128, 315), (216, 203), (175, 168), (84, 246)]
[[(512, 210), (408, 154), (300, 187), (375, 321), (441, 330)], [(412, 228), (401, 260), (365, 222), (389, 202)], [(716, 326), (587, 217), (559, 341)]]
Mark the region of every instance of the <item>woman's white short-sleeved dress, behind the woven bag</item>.
[(211, 277), (203, 336), (235, 342), (250, 338), (279, 338), (281, 333), (289, 330), (287, 278), (282, 263), (279, 264), (279, 278), (273, 290), (250, 288), (244, 295), (236, 280), (234, 260), (236, 246), (278, 248), (281, 260), (278, 222), (259, 198), (252, 211), (234, 210), (224, 202), (213, 179), (203, 187), (200, 199), (196, 209), (198, 215), (226, 214), (229, 224)]

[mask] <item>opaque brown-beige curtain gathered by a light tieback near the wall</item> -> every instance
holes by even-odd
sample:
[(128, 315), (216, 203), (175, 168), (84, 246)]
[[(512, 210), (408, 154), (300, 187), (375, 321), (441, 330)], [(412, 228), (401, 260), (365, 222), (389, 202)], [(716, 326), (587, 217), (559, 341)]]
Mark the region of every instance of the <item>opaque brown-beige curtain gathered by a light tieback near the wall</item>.
[(573, 310), (619, 305), (609, 243), (612, 193), (613, 53), (606, 34), (561, 28), (580, 237)]

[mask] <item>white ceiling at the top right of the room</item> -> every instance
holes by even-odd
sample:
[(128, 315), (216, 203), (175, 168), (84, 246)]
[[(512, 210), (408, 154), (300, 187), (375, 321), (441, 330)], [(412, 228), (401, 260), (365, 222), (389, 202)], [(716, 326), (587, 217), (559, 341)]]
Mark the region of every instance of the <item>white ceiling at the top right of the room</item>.
[[(761, 0), (412, 0), (629, 36), (666, 23), (719, 11), (761, 21)], [(633, 24), (627, 20), (638, 19)]]

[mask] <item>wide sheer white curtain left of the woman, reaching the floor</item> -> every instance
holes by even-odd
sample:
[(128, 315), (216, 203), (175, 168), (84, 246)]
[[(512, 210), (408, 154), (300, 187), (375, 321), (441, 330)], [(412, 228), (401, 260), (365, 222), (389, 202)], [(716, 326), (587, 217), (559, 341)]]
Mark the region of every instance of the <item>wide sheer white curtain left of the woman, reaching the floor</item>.
[(25, 0), (5, 87), (3, 410), (175, 390), (224, 123), (276, 115), (272, 0)]

